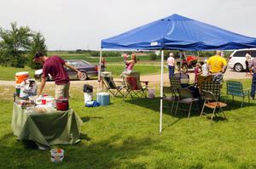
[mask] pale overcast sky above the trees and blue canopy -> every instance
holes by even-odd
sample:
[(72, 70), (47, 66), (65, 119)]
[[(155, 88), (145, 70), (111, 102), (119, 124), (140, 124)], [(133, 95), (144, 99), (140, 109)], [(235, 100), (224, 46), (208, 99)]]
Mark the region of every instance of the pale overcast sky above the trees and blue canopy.
[(49, 50), (98, 50), (104, 38), (172, 14), (256, 37), (254, 0), (0, 0), (0, 8), (0, 27), (40, 31)]

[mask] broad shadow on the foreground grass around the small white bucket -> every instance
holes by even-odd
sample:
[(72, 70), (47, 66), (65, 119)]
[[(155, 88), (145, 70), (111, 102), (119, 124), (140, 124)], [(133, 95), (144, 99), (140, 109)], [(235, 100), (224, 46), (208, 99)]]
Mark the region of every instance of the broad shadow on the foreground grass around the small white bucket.
[(59, 164), (49, 161), (49, 149), (24, 149), (20, 142), (9, 143), (9, 136), (4, 136), (0, 139), (0, 168), (52, 168), (53, 165), (64, 168), (147, 168), (147, 163), (134, 159), (148, 156), (148, 149), (156, 140), (149, 137), (123, 138), (120, 134), (90, 144), (58, 145), (65, 150), (64, 161)]

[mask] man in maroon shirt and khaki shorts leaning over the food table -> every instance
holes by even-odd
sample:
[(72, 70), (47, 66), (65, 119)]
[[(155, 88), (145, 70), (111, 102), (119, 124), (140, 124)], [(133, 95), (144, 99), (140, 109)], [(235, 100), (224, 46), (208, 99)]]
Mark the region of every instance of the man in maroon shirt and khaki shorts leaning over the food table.
[(38, 91), (38, 96), (42, 93), (46, 77), (48, 74), (53, 77), (55, 81), (55, 99), (59, 98), (68, 98), (69, 97), (69, 77), (64, 66), (68, 67), (70, 70), (78, 72), (78, 76), (82, 76), (82, 73), (75, 69), (73, 66), (68, 65), (63, 59), (59, 56), (44, 56), (43, 53), (38, 52), (34, 55), (34, 62), (43, 64), (43, 76), (41, 86)]

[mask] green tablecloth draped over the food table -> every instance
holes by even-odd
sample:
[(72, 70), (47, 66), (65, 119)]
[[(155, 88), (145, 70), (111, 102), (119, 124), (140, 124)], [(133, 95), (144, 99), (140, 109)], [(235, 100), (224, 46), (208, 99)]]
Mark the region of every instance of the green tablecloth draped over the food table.
[(12, 128), (20, 140), (32, 140), (49, 148), (54, 144), (75, 144), (80, 141), (83, 121), (73, 110), (31, 113), (14, 104)]

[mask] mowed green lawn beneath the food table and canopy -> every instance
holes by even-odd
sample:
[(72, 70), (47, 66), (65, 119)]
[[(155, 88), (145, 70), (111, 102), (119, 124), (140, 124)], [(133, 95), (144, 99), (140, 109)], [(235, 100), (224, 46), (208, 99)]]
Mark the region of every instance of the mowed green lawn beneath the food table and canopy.
[[(46, 88), (54, 93), (54, 87)], [(187, 119), (187, 112), (171, 115), (164, 109), (160, 134), (159, 98), (115, 98), (108, 106), (85, 108), (82, 86), (72, 86), (71, 108), (84, 121), (81, 142), (52, 146), (65, 150), (64, 161), (53, 164), (49, 150), (26, 149), (13, 135), (13, 92), (0, 87), (0, 168), (256, 168), (254, 100), (240, 108), (241, 99), (229, 98), (229, 120), (218, 117), (212, 123), (196, 110)]]

